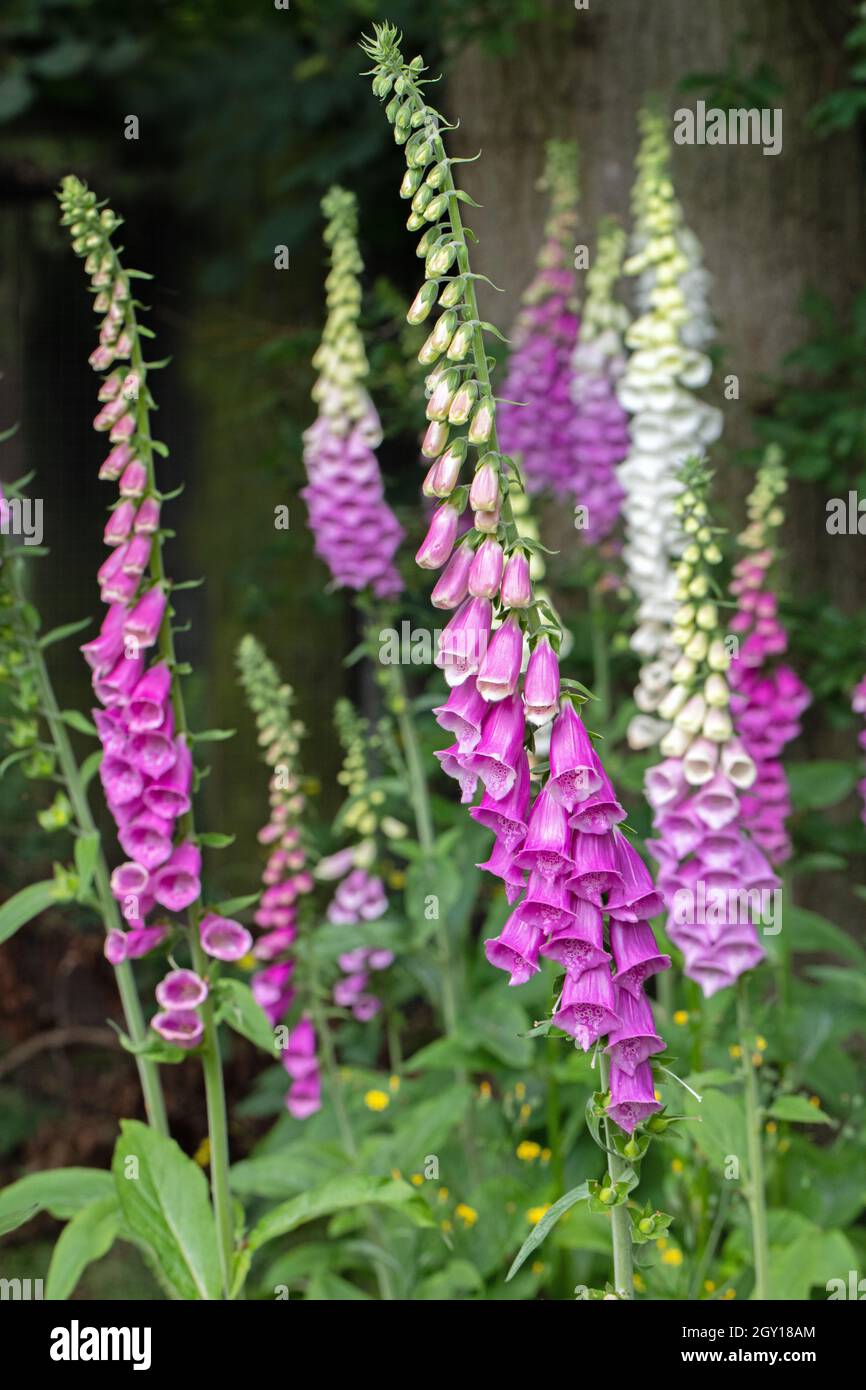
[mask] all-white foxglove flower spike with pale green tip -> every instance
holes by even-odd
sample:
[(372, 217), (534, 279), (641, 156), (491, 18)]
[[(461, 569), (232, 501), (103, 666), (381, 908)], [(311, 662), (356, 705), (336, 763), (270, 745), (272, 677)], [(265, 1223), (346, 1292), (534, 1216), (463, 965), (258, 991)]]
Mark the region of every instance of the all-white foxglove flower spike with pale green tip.
[(677, 606), (673, 562), (681, 545), (674, 509), (680, 468), (721, 432), (720, 411), (694, 395), (712, 368), (709, 357), (688, 346), (687, 278), (694, 267), (683, 246), (683, 211), (669, 164), (667, 122), (642, 111), (632, 195), (637, 250), (624, 270), (646, 277), (646, 307), (626, 335), (631, 356), (619, 386), (632, 417), (631, 450), (619, 470), (626, 488), (623, 557), (638, 600), (631, 645), (644, 662), (635, 689), (639, 713), (628, 728), (632, 748), (651, 748), (667, 728), (659, 706), (677, 659), (670, 627)]

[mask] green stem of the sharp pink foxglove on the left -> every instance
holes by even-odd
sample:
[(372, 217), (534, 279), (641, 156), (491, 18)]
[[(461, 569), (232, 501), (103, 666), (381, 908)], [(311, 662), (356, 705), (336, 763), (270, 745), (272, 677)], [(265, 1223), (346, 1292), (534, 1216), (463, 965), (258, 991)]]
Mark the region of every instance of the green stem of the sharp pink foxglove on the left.
[[(113, 249), (113, 254), (117, 253)], [(120, 272), (120, 264), (118, 264)], [(156, 471), (153, 464), (153, 443), (150, 438), (150, 393), (147, 391), (147, 368), (142, 356), (142, 345), (138, 332), (138, 322), (135, 316), (135, 309), (132, 302), (129, 302), (126, 309), (126, 320), (132, 338), (132, 370), (139, 374), (139, 395), (136, 406), (136, 432), (139, 441), (139, 456), (142, 463), (147, 468), (147, 485), (150, 492), (157, 493), (156, 486)], [(154, 584), (168, 588), (168, 580), (165, 575), (165, 563), (163, 557), (163, 535), (157, 532), (154, 535), (154, 543), (150, 550), (150, 577)], [(172, 673), (171, 681), (171, 703), (174, 709), (175, 730), (186, 741), (189, 741), (189, 727), (186, 723), (186, 708), (183, 703), (183, 691), (181, 688), (181, 681), (178, 678), (178, 659), (174, 646), (174, 632), (171, 628), (171, 612), (170, 606), (165, 609), (165, 617), (163, 619), (163, 627), (160, 630), (158, 638), (160, 655), (165, 660), (168, 669)], [(178, 827), (181, 831), (181, 838), (183, 841), (195, 841), (195, 816), (192, 808), (178, 819)], [(196, 974), (202, 977), (210, 976), (213, 979), (213, 962), (207, 958), (202, 948), (199, 923), (202, 920), (202, 905), (193, 903), (186, 913), (186, 929), (189, 938), (189, 951), (192, 955), (192, 963)], [(202, 1070), (204, 1073), (204, 1095), (207, 1102), (207, 1134), (210, 1140), (210, 1186), (211, 1197), (214, 1205), (214, 1218), (217, 1222), (217, 1243), (220, 1248), (220, 1272), (222, 1277), (224, 1297), (229, 1297), (229, 1290), (232, 1286), (232, 1266), (234, 1266), (234, 1222), (232, 1222), (232, 1198), (228, 1184), (228, 1169), (229, 1169), (229, 1155), (228, 1155), (228, 1119), (225, 1109), (225, 1087), (222, 1081), (222, 1058), (220, 1056), (220, 1038), (218, 1029), (214, 1020), (214, 1005), (213, 995), (209, 992), (207, 999), (200, 1006), (202, 1020), (204, 1023), (204, 1036), (200, 1045), (202, 1055)]]

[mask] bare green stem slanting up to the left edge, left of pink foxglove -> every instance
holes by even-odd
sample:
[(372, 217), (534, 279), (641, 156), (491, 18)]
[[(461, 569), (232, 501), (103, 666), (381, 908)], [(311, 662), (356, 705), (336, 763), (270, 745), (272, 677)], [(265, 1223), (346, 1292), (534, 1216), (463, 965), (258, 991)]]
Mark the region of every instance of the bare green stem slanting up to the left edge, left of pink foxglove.
[[(14, 569), (13, 569), (14, 575)], [(14, 582), (14, 580), (13, 580)], [(39, 642), (33, 641), (31, 637), (24, 638), (28, 660), (31, 663), (31, 670), (33, 671), (38, 685), (39, 685), (39, 703), (42, 713), (44, 716), (46, 724), (49, 726), (51, 741), (57, 749), (57, 759), (60, 762), (60, 770), (63, 781), (67, 790), (70, 802), (72, 803), (72, 810), (75, 813), (75, 823), (82, 835), (99, 835), (96, 823), (93, 820), (93, 813), (90, 810), (90, 803), (88, 801), (88, 792), (81, 777), (81, 769), (75, 753), (72, 752), (72, 745), (70, 744), (70, 735), (67, 727), (60, 717), (60, 708), (57, 705), (57, 696), (54, 695), (54, 687), (51, 684), (51, 677), (49, 676), (47, 666), (44, 663), (44, 656), (42, 655), (42, 648)], [(96, 897), (99, 899), (99, 909), (103, 919), (103, 927), (106, 931), (120, 931), (121, 930), (121, 916), (117, 906), (117, 899), (111, 892), (111, 883), (108, 874), (108, 866), (106, 863), (106, 855), (101, 845), (96, 855), (96, 867), (93, 870), (93, 885), (96, 890)], [(145, 1017), (142, 1015), (142, 1005), (138, 995), (138, 988), (135, 984), (135, 976), (132, 973), (132, 963), (129, 960), (122, 960), (120, 965), (113, 966), (114, 977), (117, 980), (117, 990), (121, 998), (121, 1005), (124, 1009), (124, 1020), (126, 1023), (126, 1033), (131, 1040), (136, 1044), (145, 1042), (147, 1037), (147, 1030), (145, 1026)], [(145, 1098), (145, 1111), (147, 1115), (147, 1122), (152, 1129), (157, 1130), (160, 1134), (168, 1134), (168, 1119), (165, 1116), (165, 1098), (163, 1095), (163, 1083), (160, 1080), (160, 1069), (156, 1062), (150, 1058), (136, 1055), (135, 1065), (139, 1074), (139, 1081), (142, 1083), (142, 1095)]]

